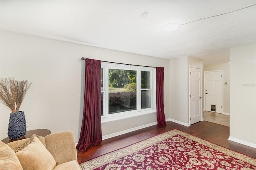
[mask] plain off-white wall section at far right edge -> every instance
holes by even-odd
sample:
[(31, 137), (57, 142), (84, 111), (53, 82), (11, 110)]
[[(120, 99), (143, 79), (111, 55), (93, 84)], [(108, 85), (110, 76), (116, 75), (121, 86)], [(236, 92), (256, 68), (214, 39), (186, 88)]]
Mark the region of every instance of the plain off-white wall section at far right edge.
[(230, 48), (229, 139), (256, 148), (256, 44)]

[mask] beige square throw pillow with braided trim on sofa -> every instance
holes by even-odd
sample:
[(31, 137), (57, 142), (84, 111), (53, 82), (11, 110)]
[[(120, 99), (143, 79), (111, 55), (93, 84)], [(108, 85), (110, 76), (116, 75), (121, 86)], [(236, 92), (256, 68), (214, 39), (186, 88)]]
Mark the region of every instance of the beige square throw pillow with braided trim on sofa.
[(14, 150), (24, 170), (51, 170), (56, 166), (52, 154), (40, 142), (36, 134)]

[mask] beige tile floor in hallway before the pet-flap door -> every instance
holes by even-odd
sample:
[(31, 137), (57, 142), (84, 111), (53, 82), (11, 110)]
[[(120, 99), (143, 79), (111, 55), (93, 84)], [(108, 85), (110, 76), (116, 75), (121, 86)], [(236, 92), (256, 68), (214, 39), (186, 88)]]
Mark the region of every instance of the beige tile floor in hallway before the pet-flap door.
[(229, 116), (228, 115), (204, 111), (203, 117), (204, 117), (204, 121), (217, 123), (217, 124), (229, 127)]

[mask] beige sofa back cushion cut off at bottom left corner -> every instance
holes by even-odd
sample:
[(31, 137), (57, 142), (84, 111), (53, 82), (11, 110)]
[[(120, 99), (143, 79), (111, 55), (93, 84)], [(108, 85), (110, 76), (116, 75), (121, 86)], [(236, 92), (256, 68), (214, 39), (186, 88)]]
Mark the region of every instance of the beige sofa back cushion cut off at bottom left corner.
[(23, 170), (14, 151), (0, 141), (0, 170)]

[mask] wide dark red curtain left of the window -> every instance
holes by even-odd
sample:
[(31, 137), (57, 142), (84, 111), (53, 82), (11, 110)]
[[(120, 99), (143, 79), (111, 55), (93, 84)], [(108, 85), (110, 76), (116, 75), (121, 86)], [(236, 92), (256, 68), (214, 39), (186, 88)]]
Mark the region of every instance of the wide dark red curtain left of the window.
[(101, 132), (101, 61), (85, 59), (84, 114), (76, 148), (86, 152), (102, 142)]

